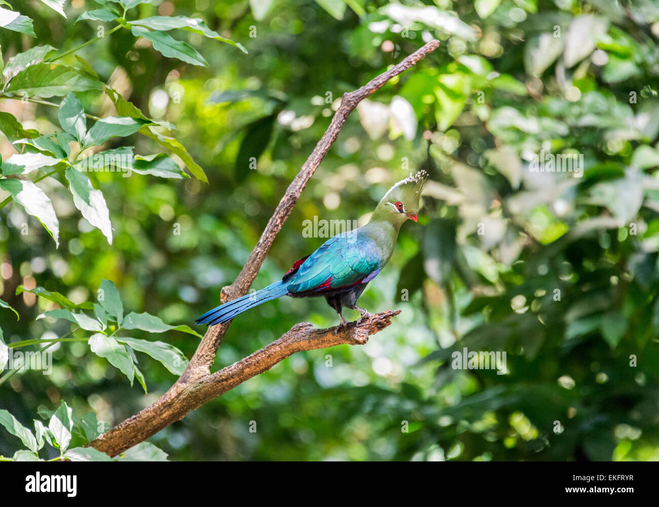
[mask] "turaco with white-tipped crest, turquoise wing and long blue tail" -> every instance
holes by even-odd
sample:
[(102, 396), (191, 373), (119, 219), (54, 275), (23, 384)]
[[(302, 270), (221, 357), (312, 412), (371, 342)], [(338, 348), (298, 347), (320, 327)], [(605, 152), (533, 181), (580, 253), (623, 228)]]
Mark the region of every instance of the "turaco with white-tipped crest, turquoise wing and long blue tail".
[(290, 296), (324, 297), (341, 319), (335, 333), (347, 326), (341, 313), (343, 307), (361, 314), (357, 325), (365, 319), (370, 324), (372, 313), (358, 307), (357, 300), (368, 282), (389, 261), (403, 223), (417, 221), (427, 178), (428, 173), (421, 170), (397, 182), (378, 202), (368, 223), (332, 236), (316, 252), (295, 261), (281, 280), (221, 304), (200, 315), (195, 323), (208, 326), (225, 323), (255, 306)]

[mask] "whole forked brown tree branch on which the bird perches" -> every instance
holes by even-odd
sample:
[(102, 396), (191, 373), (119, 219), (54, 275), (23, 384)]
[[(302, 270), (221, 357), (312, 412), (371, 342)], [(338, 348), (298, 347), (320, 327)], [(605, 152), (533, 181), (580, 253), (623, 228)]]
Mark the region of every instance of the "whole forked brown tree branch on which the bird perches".
[[(372, 79), (365, 86), (354, 92), (343, 94), (341, 105), (332, 118), (328, 130), (316, 144), (314, 151), (306, 159), (300, 172), (295, 176), (283, 198), (279, 201), (241, 273), (239, 273), (233, 284), (222, 289), (222, 303), (247, 293), (261, 268), (266, 254), (268, 254), (268, 250), (270, 250), (270, 246), (272, 246), (273, 240), (299, 200), (302, 190), (318, 169), (321, 161), (328, 153), (329, 147), (339, 135), (339, 131), (345, 124), (348, 115), (355, 110), (358, 103), (380, 90), (391, 78), (413, 67), (428, 53), (432, 53), (437, 49), (439, 45), (440, 42), (437, 40), (428, 42), (401, 63)], [(183, 375), (158, 401), (90, 442), (90, 446), (110, 456), (116, 456), (155, 435), (171, 423), (182, 419), (190, 410), (202, 406), (209, 400), (254, 377), (254, 375), (270, 369), (273, 365), (295, 352), (325, 348), (337, 344), (357, 345), (366, 343), (370, 334), (378, 333), (378, 331), (387, 327), (391, 324), (391, 317), (398, 313), (400, 312), (391, 310), (378, 313), (373, 316), (372, 322), (368, 325), (357, 326), (355, 323), (351, 323), (347, 328), (340, 331), (338, 331), (338, 328), (313, 329), (308, 323), (297, 324), (288, 333), (281, 336), (279, 340), (254, 352), (242, 361), (238, 361), (213, 374), (210, 373), (210, 368), (215, 360), (217, 349), (221, 345), (231, 323), (227, 322), (212, 326), (206, 331)], [(338, 331), (337, 334), (334, 334), (335, 330)]]

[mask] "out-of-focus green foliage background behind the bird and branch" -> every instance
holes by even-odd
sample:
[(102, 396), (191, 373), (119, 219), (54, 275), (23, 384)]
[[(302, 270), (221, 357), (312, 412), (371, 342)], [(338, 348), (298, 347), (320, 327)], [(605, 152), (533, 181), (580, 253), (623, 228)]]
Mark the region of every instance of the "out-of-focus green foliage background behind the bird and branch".
[[(102, 149), (164, 147), (196, 177), (90, 174), (107, 202), (111, 245), (81, 219), (59, 173), (39, 183), (59, 219), (59, 248), (18, 204), (4, 207), (0, 293), (20, 315), (0, 308), (5, 342), (71, 332), (66, 319), (36, 320), (57, 306), (18, 286), (79, 305), (113, 280), (135, 313), (194, 321), (239, 273), (341, 94), (438, 38), (440, 49), (351, 115), (254, 282), (269, 284), (322, 244), (302, 236), (305, 220), (364, 223), (390, 184), (426, 169), (418, 225), (403, 227), (360, 298), (370, 311), (403, 313), (366, 346), (295, 354), (150, 442), (173, 460), (659, 460), (656, 1), (132, 3), (129, 19), (202, 18), (248, 54), (163, 32), (208, 62), (186, 65), (140, 30), (119, 30), (61, 60), (84, 68), (78, 55), (118, 94), (76, 92), (86, 112), (128, 115), (124, 97), (142, 120), (175, 126), (189, 159), (141, 130)], [(100, 8), (90, 0), (67, 1), (67, 19), (38, 0), (14, 7), (34, 20), (36, 39), (0, 28), (5, 61), (36, 40), (68, 51), (113, 26), (73, 22)], [(7, 99), (0, 109), (26, 131), (61, 132), (53, 107)], [(7, 138), (3, 161), (16, 153)], [(581, 170), (533, 170), (538, 157), (558, 155), (583, 156)], [(324, 300), (284, 298), (246, 315), (216, 368), (295, 323), (336, 324)], [(188, 358), (198, 344), (175, 331), (158, 337)], [(506, 352), (505, 374), (452, 367), (465, 347)], [(74, 421), (91, 411), (107, 429), (176, 379), (140, 354), (144, 394), (84, 341), (51, 350), (51, 375), (21, 371), (0, 386), (0, 408), (24, 425), (38, 415), (47, 423), (65, 400)], [(0, 431), (0, 454), (17, 446)]]

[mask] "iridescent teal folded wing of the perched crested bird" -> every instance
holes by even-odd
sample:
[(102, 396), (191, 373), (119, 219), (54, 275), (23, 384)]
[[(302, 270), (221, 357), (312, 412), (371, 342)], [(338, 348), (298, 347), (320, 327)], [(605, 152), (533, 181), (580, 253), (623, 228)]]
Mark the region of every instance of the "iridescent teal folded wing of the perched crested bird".
[(331, 292), (368, 282), (382, 267), (376, 243), (364, 235), (329, 238), (302, 263), (288, 286), (291, 294)]

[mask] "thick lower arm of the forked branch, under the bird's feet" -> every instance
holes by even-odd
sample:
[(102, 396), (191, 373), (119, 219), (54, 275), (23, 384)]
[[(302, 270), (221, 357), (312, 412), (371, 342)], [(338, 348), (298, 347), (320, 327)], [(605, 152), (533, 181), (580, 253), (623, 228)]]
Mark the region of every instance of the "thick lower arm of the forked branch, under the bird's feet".
[[(183, 419), (190, 410), (199, 408), (209, 400), (263, 373), (295, 352), (340, 344), (365, 344), (368, 342), (368, 336), (382, 331), (391, 324), (391, 317), (399, 313), (400, 310), (376, 313), (370, 324), (358, 326), (350, 323), (345, 328), (314, 329), (309, 323), (296, 324), (279, 340), (231, 366), (186, 384), (176, 383), (156, 403), (101, 435), (91, 445), (109, 456), (117, 456), (171, 423)], [(338, 333), (334, 334), (335, 331)]]

